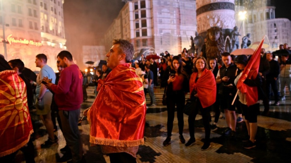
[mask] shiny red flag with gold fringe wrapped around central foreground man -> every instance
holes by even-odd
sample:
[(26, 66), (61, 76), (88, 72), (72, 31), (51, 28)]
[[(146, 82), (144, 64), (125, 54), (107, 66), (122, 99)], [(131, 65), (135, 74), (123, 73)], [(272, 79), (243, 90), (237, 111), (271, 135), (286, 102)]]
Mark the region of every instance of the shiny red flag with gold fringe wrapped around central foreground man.
[(144, 143), (145, 94), (129, 63), (98, 80), (98, 96), (88, 112), (90, 143), (132, 147)]

